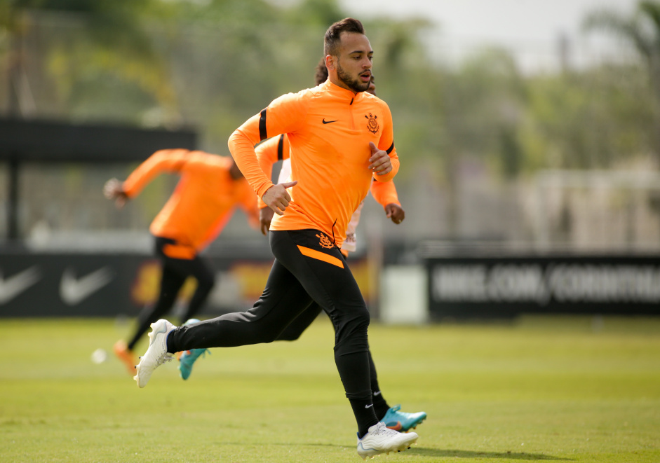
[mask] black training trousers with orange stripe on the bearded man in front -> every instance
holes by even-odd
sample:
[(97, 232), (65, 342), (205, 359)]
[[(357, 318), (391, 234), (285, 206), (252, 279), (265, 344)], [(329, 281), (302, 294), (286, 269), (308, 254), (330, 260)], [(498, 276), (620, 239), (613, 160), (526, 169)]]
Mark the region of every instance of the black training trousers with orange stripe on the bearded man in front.
[(255, 305), (178, 327), (168, 336), (168, 352), (271, 343), (316, 303), (335, 328), (335, 364), (346, 397), (371, 401), (370, 317), (344, 256), (318, 230), (271, 231), (269, 240), (275, 262)]

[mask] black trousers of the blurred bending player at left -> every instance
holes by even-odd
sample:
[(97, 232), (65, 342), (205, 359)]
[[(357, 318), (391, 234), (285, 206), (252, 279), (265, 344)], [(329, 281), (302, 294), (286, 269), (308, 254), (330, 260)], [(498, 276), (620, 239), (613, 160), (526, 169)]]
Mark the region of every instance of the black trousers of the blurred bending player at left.
[(149, 329), (149, 325), (163, 318), (167, 312), (172, 310), (179, 291), (188, 277), (194, 277), (197, 280), (197, 288), (188, 303), (186, 312), (181, 319), (182, 322), (194, 317), (199, 312), (213, 289), (215, 275), (213, 275), (210, 263), (198, 255), (191, 259), (176, 259), (166, 256), (163, 247), (166, 244), (174, 243), (175, 240), (170, 240), (170, 238), (156, 237), (156, 256), (161, 259), (163, 270), (159, 296), (154, 305), (144, 307), (138, 315), (137, 328), (127, 346), (129, 350), (133, 350), (133, 347)]

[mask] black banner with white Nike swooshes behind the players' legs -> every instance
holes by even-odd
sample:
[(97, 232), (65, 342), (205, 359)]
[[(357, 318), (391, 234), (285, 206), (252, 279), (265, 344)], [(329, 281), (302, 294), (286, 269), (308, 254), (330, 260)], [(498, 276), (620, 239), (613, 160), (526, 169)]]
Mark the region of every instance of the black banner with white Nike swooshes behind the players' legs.
[[(252, 307), (273, 265), (270, 256), (255, 254), (208, 256), (215, 287), (201, 315)], [(351, 260), (367, 303), (370, 268), (366, 258)], [(0, 317), (135, 317), (155, 302), (160, 278), (160, 261), (147, 254), (0, 253)], [(175, 313), (182, 312), (195, 287), (195, 279), (189, 278)]]

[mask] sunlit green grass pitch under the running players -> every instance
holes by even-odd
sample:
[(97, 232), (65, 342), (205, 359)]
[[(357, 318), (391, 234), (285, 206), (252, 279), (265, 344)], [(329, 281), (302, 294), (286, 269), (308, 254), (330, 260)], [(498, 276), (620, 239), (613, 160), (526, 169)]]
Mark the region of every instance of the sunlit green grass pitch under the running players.
[[(429, 415), (417, 445), (377, 458), (660, 462), (660, 319), (602, 321), (372, 324), (385, 398)], [(112, 354), (90, 360), (129, 328), (3, 321), (0, 461), (362, 461), (325, 319), (295, 343), (213, 350), (188, 381), (166, 364), (145, 389)]]

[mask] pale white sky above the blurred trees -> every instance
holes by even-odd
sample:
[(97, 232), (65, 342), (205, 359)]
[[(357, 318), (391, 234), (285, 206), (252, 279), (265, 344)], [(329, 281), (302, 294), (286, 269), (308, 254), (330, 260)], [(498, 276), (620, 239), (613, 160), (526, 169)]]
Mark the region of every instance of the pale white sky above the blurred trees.
[(437, 28), (426, 38), (431, 55), (460, 60), (484, 45), (503, 46), (530, 70), (560, 62), (560, 36), (570, 43), (575, 66), (598, 60), (612, 42), (581, 33), (581, 21), (596, 8), (632, 15), (638, 0), (340, 0), (356, 18), (391, 15), (422, 17)]

